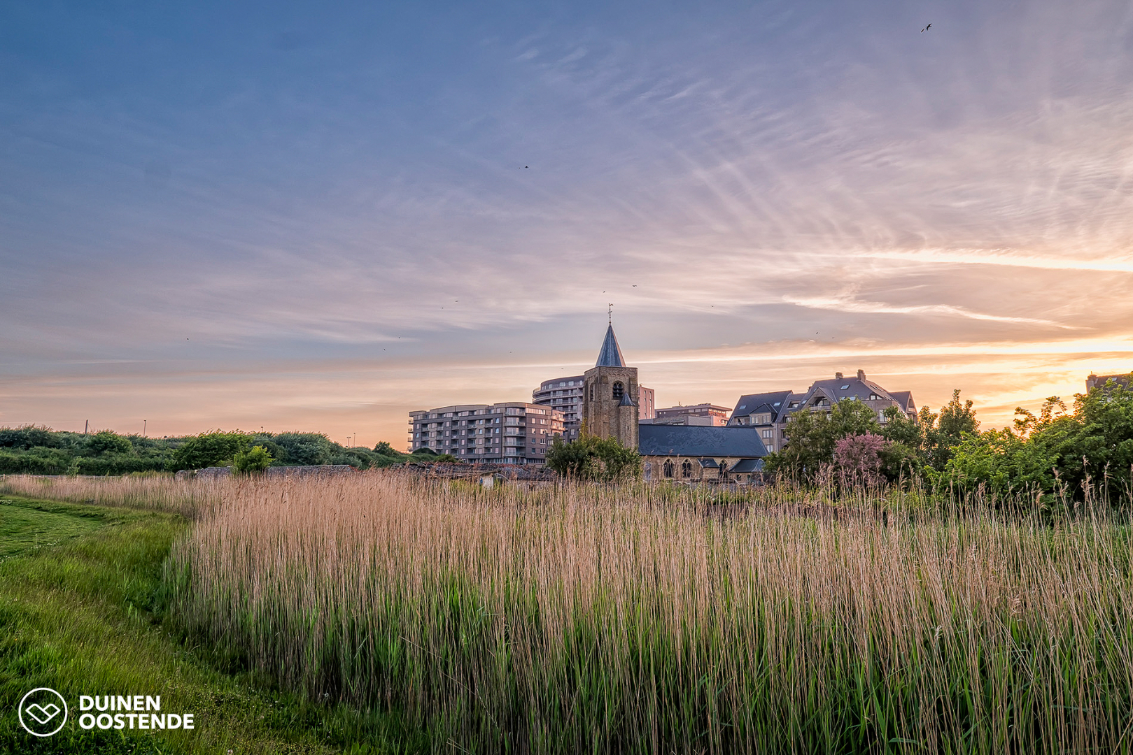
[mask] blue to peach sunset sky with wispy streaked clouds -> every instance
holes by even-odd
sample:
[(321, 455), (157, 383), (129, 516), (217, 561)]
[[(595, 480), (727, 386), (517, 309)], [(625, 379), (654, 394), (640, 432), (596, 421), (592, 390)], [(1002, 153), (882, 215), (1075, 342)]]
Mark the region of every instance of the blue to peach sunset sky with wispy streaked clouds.
[[(922, 31), (931, 23), (931, 27)], [(0, 426), (1133, 369), (1133, 1), (0, 5)]]

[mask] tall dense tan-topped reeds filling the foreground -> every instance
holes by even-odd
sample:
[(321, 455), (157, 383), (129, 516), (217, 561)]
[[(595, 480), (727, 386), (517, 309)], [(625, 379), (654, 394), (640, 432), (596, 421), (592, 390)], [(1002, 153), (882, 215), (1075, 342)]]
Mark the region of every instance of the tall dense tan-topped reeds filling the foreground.
[(1131, 752), (1130, 522), (794, 492), (232, 481), (185, 627), (441, 749)]

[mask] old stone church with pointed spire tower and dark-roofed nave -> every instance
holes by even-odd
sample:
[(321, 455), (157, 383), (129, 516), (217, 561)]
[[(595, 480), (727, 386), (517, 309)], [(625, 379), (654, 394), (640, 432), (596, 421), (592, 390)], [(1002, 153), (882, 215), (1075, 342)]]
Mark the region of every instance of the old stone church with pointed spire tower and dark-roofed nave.
[(587, 432), (614, 438), (641, 454), (646, 480), (755, 482), (767, 455), (759, 431), (747, 427), (640, 424), (638, 374), (606, 327), (598, 360), (582, 378)]

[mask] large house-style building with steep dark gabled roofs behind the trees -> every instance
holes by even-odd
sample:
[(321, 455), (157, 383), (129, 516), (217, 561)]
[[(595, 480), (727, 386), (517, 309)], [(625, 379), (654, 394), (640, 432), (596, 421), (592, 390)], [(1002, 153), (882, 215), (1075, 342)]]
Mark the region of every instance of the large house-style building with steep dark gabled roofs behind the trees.
[(860, 401), (877, 414), (877, 421), (886, 422), (885, 410), (897, 406), (910, 419), (917, 419), (917, 405), (909, 391), (886, 391), (858, 370), (857, 377), (847, 378), (835, 372), (834, 379), (816, 380), (803, 393), (773, 391), (740, 396), (727, 421), (729, 427), (750, 427), (759, 431), (768, 452), (780, 451), (786, 443), (787, 423), (791, 415), (803, 409), (812, 412), (830, 410), (840, 401)]

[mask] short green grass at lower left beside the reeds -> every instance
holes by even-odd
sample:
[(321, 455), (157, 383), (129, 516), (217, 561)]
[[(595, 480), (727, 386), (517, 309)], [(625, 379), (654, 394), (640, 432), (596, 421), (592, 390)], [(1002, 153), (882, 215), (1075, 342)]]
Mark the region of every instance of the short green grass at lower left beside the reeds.
[[(222, 668), (163, 627), (162, 569), (188, 524), (169, 514), (0, 498), (0, 753), (364, 753), (420, 748), (390, 717), (316, 706)], [(16, 705), (46, 686), (78, 695), (161, 695), (193, 731), (62, 731), (36, 739)]]

